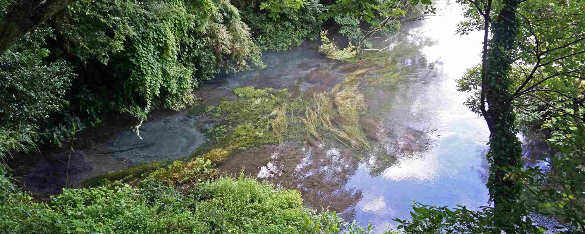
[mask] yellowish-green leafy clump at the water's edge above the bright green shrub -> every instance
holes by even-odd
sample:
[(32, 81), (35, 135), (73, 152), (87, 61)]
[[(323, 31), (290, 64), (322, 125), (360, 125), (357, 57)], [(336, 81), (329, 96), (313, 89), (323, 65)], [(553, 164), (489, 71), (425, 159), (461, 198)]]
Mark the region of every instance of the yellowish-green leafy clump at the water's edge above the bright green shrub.
[[(213, 151), (213, 150), (212, 150)], [(209, 159), (198, 158), (184, 162), (173, 161), (166, 168), (159, 168), (148, 177), (166, 184), (200, 183), (218, 174), (214, 164)]]

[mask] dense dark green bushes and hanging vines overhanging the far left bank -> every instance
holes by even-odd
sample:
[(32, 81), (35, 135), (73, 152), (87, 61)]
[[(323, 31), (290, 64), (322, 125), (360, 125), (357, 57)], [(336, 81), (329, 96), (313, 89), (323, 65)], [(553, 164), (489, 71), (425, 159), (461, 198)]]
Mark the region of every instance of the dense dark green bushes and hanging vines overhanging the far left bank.
[(228, 1), (77, 1), (0, 57), (0, 128), (60, 146), (73, 125), (190, 106), (200, 82), (249, 61), (260, 49)]

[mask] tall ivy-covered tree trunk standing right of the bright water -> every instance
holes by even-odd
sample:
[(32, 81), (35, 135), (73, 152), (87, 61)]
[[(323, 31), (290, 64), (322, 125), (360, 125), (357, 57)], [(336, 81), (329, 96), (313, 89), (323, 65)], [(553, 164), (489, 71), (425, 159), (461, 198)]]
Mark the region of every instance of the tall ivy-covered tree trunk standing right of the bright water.
[[(490, 50), (487, 53), (487, 70), (485, 81), (485, 95), (488, 110), (484, 115), (490, 129), (490, 150), (487, 155), (490, 166), (488, 190), (490, 200), (500, 213), (501, 219), (496, 219), (495, 226), (507, 233), (514, 233), (509, 218), (519, 218), (513, 215), (513, 206), (518, 199), (521, 188), (514, 180), (507, 179), (506, 167), (522, 166), (522, 148), (516, 127), (514, 113), (508, 99), (512, 78), (508, 77), (513, 56), (510, 50), (514, 48), (518, 23), (515, 18), (515, 8), (521, 1), (504, 0), (497, 19), (491, 24), (492, 39)], [(508, 220), (507, 220), (508, 219)]]

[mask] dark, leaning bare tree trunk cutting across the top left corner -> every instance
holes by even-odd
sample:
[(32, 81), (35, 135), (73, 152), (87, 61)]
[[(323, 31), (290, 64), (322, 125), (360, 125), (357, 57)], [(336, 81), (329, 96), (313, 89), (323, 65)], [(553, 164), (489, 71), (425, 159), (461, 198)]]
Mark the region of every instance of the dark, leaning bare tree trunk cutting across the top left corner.
[(0, 29), (0, 54), (37, 25), (65, 9), (75, 0), (19, 0), (6, 13)]

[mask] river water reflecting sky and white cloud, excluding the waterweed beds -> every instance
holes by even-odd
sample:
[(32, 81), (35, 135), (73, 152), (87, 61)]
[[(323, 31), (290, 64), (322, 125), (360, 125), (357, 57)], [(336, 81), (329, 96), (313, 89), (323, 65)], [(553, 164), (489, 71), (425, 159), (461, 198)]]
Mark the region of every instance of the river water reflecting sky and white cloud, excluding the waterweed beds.
[[(483, 118), (463, 105), (469, 94), (456, 91), (456, 79), (480, 61), (483, 35), (455, 34), (463, 20), (461, 5), (437, 1), (435, 6), (438, 16), (405, 25), (404, 35), (374, 39), (376, 48), (390, 46), (388, 53), (381, 53), (388, 62), (367, 79), (384, 77), (380, 71), (387, 64), (395, 67), (388, 72), (400, 73), (401, 78), (390, 85), (359, 84), (367, 99), (367, 113), (360, 123), (366, 123), (369, 149), (352, 149), (332, 137), (323, 142), (289, 140), (236, 152), (219, 164), (219, 170), (243, 171), (279, 187), (295, 188), (309, 207), (341, 212), (343, 218), (362, 225), (372, 222), (376, 232), (396, 228), (395, 218), (409, 218), (412, 201), (469, 209), (488, 205), (489, 131)], [(363, 68), (361, 63), (328, 59), (311, 43), (264, 53), (262, 59), (267, 65), (263, 70), (224, 75), (219, 82), (202, 85), (199, 97), (205, 97), (207, 105), (218, 105), (237, 99), (235, 88), (253, 86), (296, 87), (298, 95), (312, 98), (314, 92), (331, 91), (348, 74)], [(77, 183), (132, 164), (189, 154), (204, 142), (200, 130), (215, 126), (213, 120), (203, 121), (188, 111), (164, 113), (144, 122), (143, 139), (130, 130), (113, 132), (104, 143), (72, 156), (86, 165), (79, 170)], [(27, 172), (32, 175), (24, 180), (32, 184), (30, 190), (60, 191), (64, 183), (33, 183), (39, 175), (52, 175), (51, 165)]]

